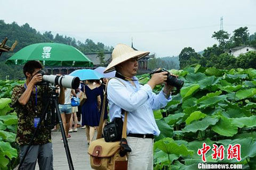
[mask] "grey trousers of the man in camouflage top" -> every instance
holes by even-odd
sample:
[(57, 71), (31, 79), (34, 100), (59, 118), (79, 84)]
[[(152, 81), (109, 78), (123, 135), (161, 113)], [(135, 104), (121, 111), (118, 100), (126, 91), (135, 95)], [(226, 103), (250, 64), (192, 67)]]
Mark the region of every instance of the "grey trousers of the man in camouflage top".
[[(20, 160), (25, 155), (28, 145), (20, 146)], [(40, 170), (53, 170), (52, 143), (31, 145), (21, 166), (21, 170), (34, 170), (38, 161)]]

